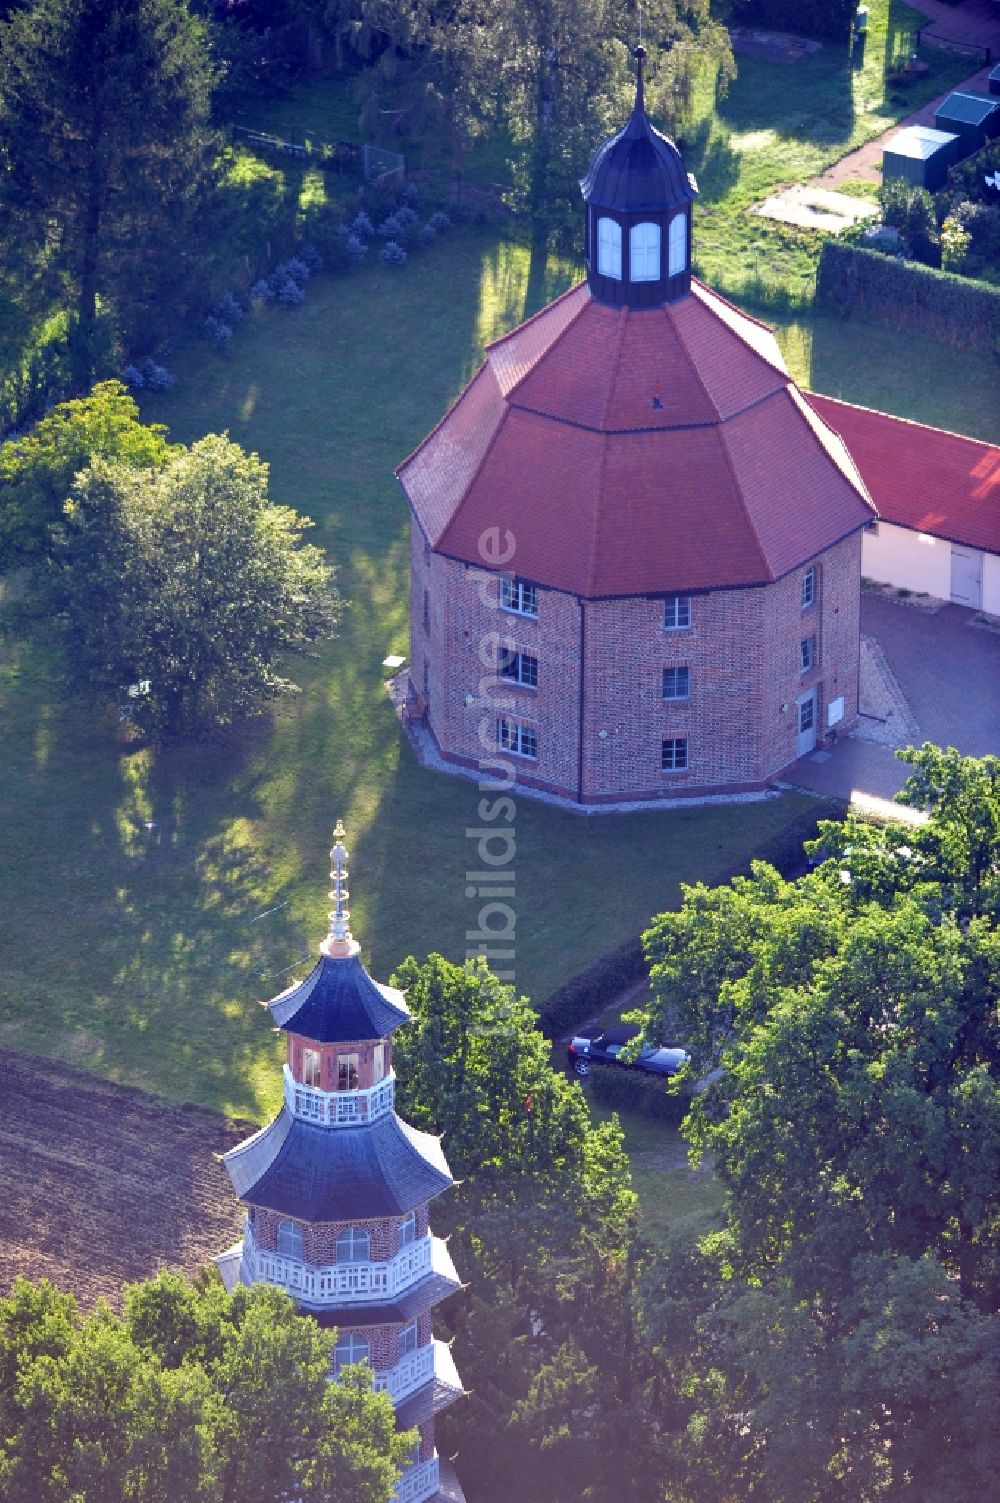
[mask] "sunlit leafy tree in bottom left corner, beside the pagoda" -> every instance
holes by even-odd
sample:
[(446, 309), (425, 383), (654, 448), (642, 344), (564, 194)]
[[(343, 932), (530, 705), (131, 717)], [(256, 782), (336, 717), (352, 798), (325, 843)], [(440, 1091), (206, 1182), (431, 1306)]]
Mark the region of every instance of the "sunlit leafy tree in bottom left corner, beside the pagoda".
[(414, 1432), (334, 1332), (268, 1285), (161, 1275), (125, 1315), (20, 1279), (0, 1300), (6, 1503), (388, 1503)]

